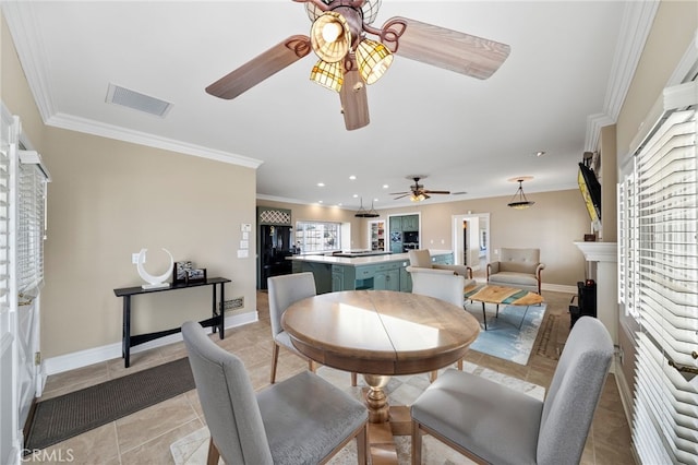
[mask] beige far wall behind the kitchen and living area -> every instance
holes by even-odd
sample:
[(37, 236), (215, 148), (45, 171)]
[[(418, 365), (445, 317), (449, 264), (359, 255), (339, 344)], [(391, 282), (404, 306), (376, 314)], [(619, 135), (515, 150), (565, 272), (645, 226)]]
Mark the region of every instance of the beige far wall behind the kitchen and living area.
[[(576, 177), (574, 166), (570, 177)], [(514, 190), (512, 193), (514, 193)], [(453, 216), (472, 213), (490, 213), (490, 245), (492, 251), (502, 247), (535, 247), (546, 269), (543, 282), (563, 286), (576, 286), (585, 278), (585, 260), (574, 241), (589, 233), (590, 220), (581, 193), (577, 189), (527, 194), (535, 202), (528, 210), (513, 210), (506, 204), (510, 196), (465, 200), (432, 204), (423, 202), (404, 208), (378, 210), (380, 218), (388, 215), (419, 213), (422, 247), (453, 250)], [(369, 248), (368, 219), (354, 218), (354, 212), (321, 206), (305, 206), (258, 200), (260, 206), (277, 206), (292, 210), (292, 220), (316, 219), (351, 222), (354, 249)], [(356, 230), (358, 228), (358, 231)], [(492, 260), (496, 260), (492, 255)]]

